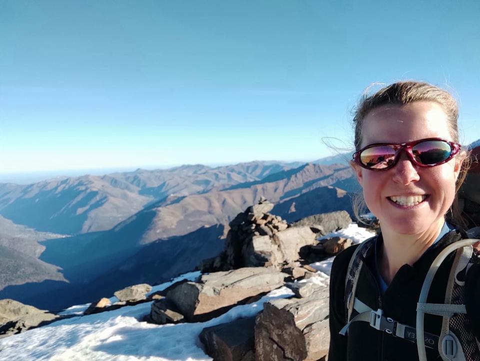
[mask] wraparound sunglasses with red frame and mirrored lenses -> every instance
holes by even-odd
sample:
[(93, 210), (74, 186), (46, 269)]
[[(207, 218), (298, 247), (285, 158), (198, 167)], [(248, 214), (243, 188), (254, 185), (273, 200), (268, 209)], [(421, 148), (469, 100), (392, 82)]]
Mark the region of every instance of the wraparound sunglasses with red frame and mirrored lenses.
[(442, 138), (419, 139), (402, 144), (375, 143), (353, 153), (353, 161), (366, 169), (387, 170), (396, 164), (402, 150), (413, 164), (434, 167), (453, 158), (460, 151), (460, 145)]

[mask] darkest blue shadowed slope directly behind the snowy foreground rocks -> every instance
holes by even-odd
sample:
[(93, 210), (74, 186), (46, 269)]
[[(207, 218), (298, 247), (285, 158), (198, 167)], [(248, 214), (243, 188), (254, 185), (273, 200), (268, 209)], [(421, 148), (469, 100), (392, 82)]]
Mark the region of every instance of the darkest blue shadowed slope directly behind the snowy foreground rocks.
[[(78, 276), (69, 282), (39, 279), (38, 283), (10, 285), (0, 289), (0, 298), (12, 298), (38, 308), (58, 311), (75, 303), (91, 302), (127, 285), (142, 282), (155, 284), (193, 270), (202, 259), (217, 255), (224, 247), (224, 240), (220, 238), (223, 232), (223, 226), (215, 225), (183, 236), (158, 240), (137, 248), (128, 258), (112, 258), (108, 266), (91, 264), (100, 267), (90, 269), (89, 278)], [(98, 233), (101, 235), (102, 232)], [(73, 274), (71, 269), (66, 271), (65, 274)]]

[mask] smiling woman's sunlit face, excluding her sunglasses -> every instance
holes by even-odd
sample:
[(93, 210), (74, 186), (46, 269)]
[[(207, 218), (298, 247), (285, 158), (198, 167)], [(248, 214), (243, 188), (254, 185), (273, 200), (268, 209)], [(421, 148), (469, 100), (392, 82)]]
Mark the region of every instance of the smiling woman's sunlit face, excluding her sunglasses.
[[(447, 118), (433, 102), (375, 108), (363, 119), (360, 147), (372, 143), (407, 143), (424, 138), (452, 141)], [(353, 165), (363, 196), (381, 228), (400, 234), (422, 234), (443, 223), (455, 196), (455, 181), (461, 166), (457, 155), (435, 167), (418, 167), (401, 152), (393, 168), (371, 171)], [(421, 196), (414, 206), (395, 203), (398, 196)], [(415, 198), (413, 198), (415, 199)], [(416, 198), (420, 200), (420, 198)]]

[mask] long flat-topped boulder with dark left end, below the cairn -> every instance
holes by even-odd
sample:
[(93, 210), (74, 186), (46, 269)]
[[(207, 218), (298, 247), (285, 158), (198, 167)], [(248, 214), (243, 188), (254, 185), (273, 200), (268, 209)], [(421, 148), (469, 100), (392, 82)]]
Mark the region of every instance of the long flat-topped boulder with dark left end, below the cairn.
[(199, 282), (182, 282), (166, 293), (188, 321), (202, 321), (226, 312), (252, 296), (283, 285), (286, 273), (264, 267), (245, 267), (201, 276)]

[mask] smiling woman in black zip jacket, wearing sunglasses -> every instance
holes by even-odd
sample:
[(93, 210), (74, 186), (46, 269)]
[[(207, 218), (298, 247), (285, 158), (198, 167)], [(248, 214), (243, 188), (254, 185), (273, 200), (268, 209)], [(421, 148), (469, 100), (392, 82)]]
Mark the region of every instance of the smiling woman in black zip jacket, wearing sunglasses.
[[(357, 246), (349, 247), (333, 262), (329, 361), (418, 359), (412, 341), (425, 275), (442, 249), (469, 238), (459, 231), (462, 222), (454, 202), (467, 163), (466, 152), (458, 144), (457, 118), (451, 95), (426, 83), (395, 83), (360, 101), (353, 118), (356, 152), (351, 165), (381, 233), (365, 243), (369, 247), (363, 247), (367, 250), (355, 275), (355, 300), (346, 299), (351, 292), (345, 295), (345, 281)], [(445, 221), (447, 213), (452, 215), (451, 223)], [(428, 302), (445, 303), (453, 258), (451, 254), (439, 267)], [(348, 276), (352, 278), (350, 273)], [(480, 339), (480, 264), (469, 267), (464, 290), (467, 319), (462, 327)], [(355, 308), (347, 317), (345, 305), (356, 299), (363, 310), (379, 310), (373, 323), (345, 326), (347, 319), (361, 313)], [(375, 324), (375, 315), (380, 320), (381, 314), (381, 321), (391, 322), (393, 328)], [(441, 359), (435, 335), (440, 334), (442, 320), (441, 316), (425, 315), (425, 343), (435, 346), (426, 349), (428, 360)], [(469, 341), (476, 349), (468, 351), (467, 360), (480, 360), (474, 337)]]

